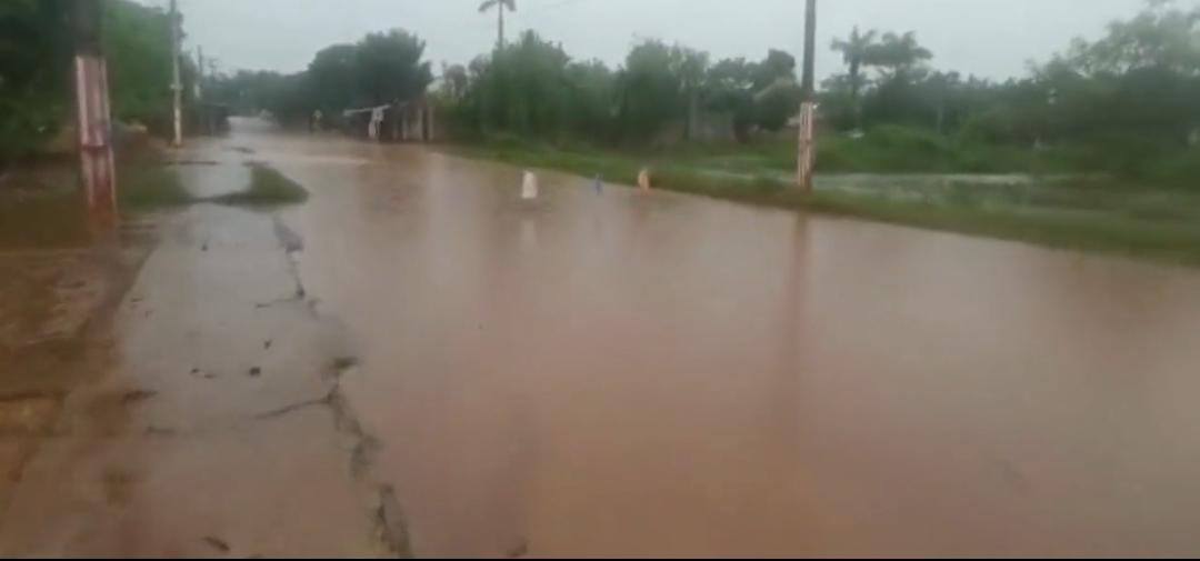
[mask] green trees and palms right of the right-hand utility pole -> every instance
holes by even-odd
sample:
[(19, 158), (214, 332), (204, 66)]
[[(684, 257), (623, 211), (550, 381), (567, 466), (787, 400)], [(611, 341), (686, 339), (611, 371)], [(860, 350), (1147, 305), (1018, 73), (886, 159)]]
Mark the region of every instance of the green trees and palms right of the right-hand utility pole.
[(1032, 147), (1069, 168), (1200, 181), (1200, 7), (1151, 0), (1104, 36), (998, 83), (931, 68), (913, 34), (856, 29), (833, 48), (846, 72), (826, 80), (821, 102), (835, 131), (888, 127), (895, 138), (905, 127)]

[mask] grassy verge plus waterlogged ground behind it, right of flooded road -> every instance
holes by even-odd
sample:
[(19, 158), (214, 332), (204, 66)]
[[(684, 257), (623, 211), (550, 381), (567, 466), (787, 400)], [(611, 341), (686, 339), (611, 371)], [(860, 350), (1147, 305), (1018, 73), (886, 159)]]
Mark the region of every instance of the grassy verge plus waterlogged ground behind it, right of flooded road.
[(812, 193), (804, 193), (788, 171), (740, 162), (714, 167), (721, 157), (692, 153), (572, 151), (511, 139), (449, 150), (626, 186), (646, 167), (658, 189), (1200, 265), (1200, 192), (1194, 189), (1076, 176), (826, 175), (817, 177)]

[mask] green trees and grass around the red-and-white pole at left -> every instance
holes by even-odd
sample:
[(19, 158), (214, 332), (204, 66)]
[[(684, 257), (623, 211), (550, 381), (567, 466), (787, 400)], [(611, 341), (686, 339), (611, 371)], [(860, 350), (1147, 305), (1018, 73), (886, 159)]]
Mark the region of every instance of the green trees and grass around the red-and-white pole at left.
[[(73, 44), (70, 4), (68, 0), (0, 2), (0, 179), (11, 180), (0, 181), (0, 187), (12, 183), (29, 191), (22, 194), (19, 207), (7, 205), (16, 211), (30, 211), (35, 203), (58, 205), (59, 199), (74, 195), (73, 180), (59, 177), (64, 174), (54, 174), (54, 185), (32, 189), (38, 193), (30, 189), (36, 182), (24, 179), (44, 175), (47, 169), (73, 176), (72, 92), (70, 73), (65, 72), (71, 66)], [(169, 16), (161, 6), (106, 0), (103, 18), (115, 123), (118, 203), (122, 209), (144, 211), (200, 201), (271, 205), (302, 201), (307, 197), (302, 187), (265, 165), (252, 169), (245, 191), (211, 200), (188, 193), (178, 169), (163, 164), (152, 139), (166, 135), (170, 128)], [(181, 56), (180, 66), (185, 108), (194, 107), (193, 84), (198, 72), (191, 56)]]

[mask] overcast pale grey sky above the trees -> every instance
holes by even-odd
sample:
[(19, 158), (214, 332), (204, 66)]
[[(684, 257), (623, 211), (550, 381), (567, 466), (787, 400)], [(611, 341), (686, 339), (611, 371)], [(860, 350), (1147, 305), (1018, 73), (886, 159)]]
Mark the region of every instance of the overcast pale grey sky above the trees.
[[(166, 5), (167, 0), (139, 0)], [(304, 70), (320, 48), (368, 31), (404, 28), (427, 43), (427, 58), (467, 62), (496, 42), (494, 13), (479, 0), (179, 0), (188, 48), (199, 44), (223, 71)], [(1184, 0), (1195, 4), (1200, 0)], [(821, 0), (818, 73), (841, 71), (828, 49), (835, 36), (864, 29), (916, 30), (943, 70), (986, 78), (1025, 73), (1072, 37), (1096, 37), (1145, 0)], [(641, 37), (701, 48), (714, 59), (762, 58), (802, 47), (803, 0), (517, 0), (508, 32), (533, 29), (577, 59), (619, 64)]]

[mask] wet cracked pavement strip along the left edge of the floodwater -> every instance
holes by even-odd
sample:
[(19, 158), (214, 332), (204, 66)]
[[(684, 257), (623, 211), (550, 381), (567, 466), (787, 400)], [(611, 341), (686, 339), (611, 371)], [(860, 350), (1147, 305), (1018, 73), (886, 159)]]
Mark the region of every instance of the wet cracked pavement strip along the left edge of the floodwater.
[(197, 206), (163, 229), (116, 312), (113, 367), (66, 397), (23, 470), (0, 554), (403, 554), (374, 514), (384, 489), (352, 466), (366, 442), (340, 397), (344, 339), (293, 297), (271, 217)]

